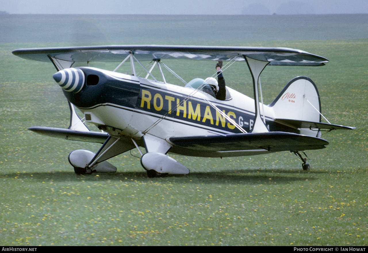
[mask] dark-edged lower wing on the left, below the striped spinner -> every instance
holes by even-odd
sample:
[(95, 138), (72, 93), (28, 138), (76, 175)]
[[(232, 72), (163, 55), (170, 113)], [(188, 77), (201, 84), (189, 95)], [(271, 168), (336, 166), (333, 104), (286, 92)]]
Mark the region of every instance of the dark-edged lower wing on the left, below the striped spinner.
[(72, 141), (98, 142), (104, 143), (109, 134), (92, 131), (76, 131), (65, 128), (54, 127), (30, 127), (28, 128), (37, 134), (47, 135), (50, 137), (63, 138)]

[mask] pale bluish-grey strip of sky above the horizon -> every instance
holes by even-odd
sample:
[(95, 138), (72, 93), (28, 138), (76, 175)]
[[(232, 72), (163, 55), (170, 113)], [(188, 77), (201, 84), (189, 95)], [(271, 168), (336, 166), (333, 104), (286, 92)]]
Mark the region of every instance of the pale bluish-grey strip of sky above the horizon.
[(368, 0), (0, 0), (10, 14), (351, 14)]

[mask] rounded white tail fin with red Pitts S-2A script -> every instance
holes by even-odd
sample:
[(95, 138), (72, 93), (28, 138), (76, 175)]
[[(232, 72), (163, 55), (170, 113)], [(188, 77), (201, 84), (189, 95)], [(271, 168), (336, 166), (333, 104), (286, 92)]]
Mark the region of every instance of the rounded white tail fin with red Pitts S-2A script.
[[(321, 100), (314, 82), (305, 76), (291, 80), (269, 105), (275, 119), (321, 122)], [(319, 129), (301, 128), (300, 134), (321, 136)]]

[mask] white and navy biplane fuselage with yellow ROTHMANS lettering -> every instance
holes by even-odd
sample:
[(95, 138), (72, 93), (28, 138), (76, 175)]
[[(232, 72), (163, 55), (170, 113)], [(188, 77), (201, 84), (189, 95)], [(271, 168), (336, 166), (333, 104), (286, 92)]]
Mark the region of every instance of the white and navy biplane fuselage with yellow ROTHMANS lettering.
[[(84, 87), (77, 93), (64, 90), (64, 94), (87, 122), (110, 135), (139, 140), (147, 133), (167, 141), (171, 136), (240, 133), (239, 127), (243, 132), (253, 130), (254, 99), (236, 90), (227, 88), (230, 96), (221, 101), (191, 87), (91, 67), (80, 69), (86, 77)], [(260, 108), (270, 131), (295, 131), (273, 121), (272, 107)]]

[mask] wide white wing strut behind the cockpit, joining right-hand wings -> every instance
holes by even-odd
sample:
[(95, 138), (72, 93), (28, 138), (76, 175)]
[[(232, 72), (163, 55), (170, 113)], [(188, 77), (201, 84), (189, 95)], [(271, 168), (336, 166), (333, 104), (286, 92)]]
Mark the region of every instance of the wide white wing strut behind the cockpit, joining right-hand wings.
[[(255, 117), (254, 117), (253, 129), (251, 132), (254, 132), (254, 133), (269, 132), (269, 130), (266, 127), (265, 122), (262, 121), (261, 112), (259, 110), (259, 91), (262, 92), (259, 76), (261, 75), (263, 69), (265, 69), (265, 67), (269, 64), (269, 62), (264, 62), (262, 60), (255, 60), (245, 55), (244, 55), (244, 59), (248, 64), (249, 70), (253, 78)], [(261, 100), (263, 101), (262, 94), (261, 94)], [(263, 117), (264, 117), (264, 112), (263, 112)]]

